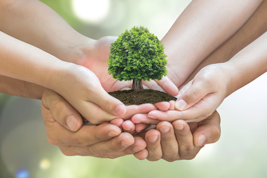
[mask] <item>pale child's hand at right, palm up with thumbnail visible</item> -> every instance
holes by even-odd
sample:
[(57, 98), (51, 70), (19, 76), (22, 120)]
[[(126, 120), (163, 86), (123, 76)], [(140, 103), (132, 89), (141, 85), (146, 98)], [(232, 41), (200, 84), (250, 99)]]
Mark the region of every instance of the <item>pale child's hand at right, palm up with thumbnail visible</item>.
[(159, 121), (199, 122), (210, 116), (227, 96), (231, 76), (223, 63), (204, 67), (179, 91), (175, 109), (151, 111), (147, 117)]

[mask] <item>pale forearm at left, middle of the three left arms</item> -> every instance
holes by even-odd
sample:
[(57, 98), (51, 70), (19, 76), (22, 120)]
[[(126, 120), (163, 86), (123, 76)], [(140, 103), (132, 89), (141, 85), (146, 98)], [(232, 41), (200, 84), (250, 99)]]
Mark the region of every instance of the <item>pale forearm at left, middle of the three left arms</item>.
[(2, 32), (0, 39), (0, 75), (52, 89), (70, 65)]

